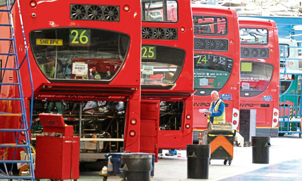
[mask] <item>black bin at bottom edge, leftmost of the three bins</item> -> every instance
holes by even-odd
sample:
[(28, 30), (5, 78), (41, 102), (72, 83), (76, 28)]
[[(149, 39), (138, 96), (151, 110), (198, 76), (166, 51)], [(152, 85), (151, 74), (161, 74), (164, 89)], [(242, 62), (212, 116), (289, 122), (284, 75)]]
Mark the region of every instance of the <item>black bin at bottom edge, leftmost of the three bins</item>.
[(152, 169), (152, 154), (124, 153), (122, 154), (123, 181), (150, 181)]

